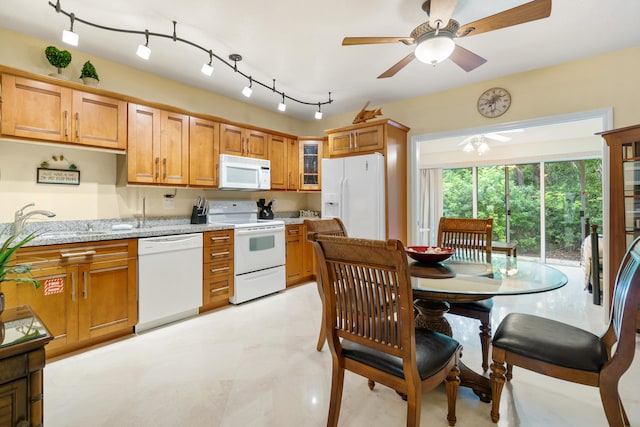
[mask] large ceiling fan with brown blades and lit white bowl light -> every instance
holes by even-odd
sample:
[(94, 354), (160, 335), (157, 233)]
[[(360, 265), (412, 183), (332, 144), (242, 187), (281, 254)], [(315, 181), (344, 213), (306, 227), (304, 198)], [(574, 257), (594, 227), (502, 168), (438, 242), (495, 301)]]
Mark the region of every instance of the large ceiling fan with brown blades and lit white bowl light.
[(458, 0), (426, 0), (422, 4), (422, 10), (427, 13), (429, 20), (414, 28), (409, 37), (345, 37), (342, 45), (401, 42), (416, 46), (413, 52), (380, 74), (379, 79), (394, 76), (415, 58), (434, 65), (450, 58), (469, 72), (487, 60), (457, 45), (454, 39), (536, 21), (551, 15), (551, 0), (532, 0), (461, 26), (458, 21), (451, 19), (457, 3)]

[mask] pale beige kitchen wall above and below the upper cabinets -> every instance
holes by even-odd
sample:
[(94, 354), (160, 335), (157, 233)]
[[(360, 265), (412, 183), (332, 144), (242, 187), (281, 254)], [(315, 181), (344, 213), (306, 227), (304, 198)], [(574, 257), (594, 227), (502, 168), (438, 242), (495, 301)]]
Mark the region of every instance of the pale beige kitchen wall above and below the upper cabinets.
[[(42, 53), (48, 42), (3, 29), (0, 29), (0, 40), (0, 64), (38, 74), (51, 72)], [(84, 53), (71, 53), (99, 61), (101, 75), (105, 76), (100, 85), (106, 90), (291, 134), (322, 135), (325, 129), (348, 125), (357, 113), (304, 122), (121, 64), (96, 60)], [(79, 75), (81, 62), (72, 63), (69, 72)], [(640, 47), (635, 47), (380, 107), (384, 112), (383, 118), (392, 118), (409, 126), (410, 136), (608, 107), (614, 111), (614, 127), (628, 126), (640, 122), (640, 107), (637, 105), (640, 85), (636, 76), (639, 68)], [(123, 75), (126, 78), (109, 78)], [(483, 118), (476, 111), (477, 97), (492, 86), (507, 88), (513, 97), (509, 111), (498, 119)], [(82, 173), (80, 186), (34, 183), (35, 168), (53, 154), (65, 154), (77, 162)], [(0, 195), (4, 199), (0, 207), (0, 222), (11, 221), (15, 208), (31, 201), (35, 201), (39, 208), (58, 212), (59, 219), (126, 217), (138, 213), (143, 196), (147, 198), (148, 211), (152, 215), (187, 215), (198, 195), (252, 200), (275, 197), (279, 201), (278, 211), (320, 209), (317, 194), (186, 189), (177, 190), (176, 207), (167, 209), (163, 195), (173, 190), (116, 185), (117, 157), (116, 154), (66, 146), (0, 141)]]

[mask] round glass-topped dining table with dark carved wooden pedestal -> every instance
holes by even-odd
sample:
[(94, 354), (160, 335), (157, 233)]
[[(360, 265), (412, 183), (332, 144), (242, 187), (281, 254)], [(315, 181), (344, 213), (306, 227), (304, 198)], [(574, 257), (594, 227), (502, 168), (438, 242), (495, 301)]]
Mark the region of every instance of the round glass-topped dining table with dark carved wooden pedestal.
[[(491, 263), (452, 257), (433, 264), (410, 262), (415, 326), (453, 336), (444, 316), (451, 302), (481, 301), (504, 295), (548, 292), (567, 283), (567, 276), (546, 264), (496, 255)], [(491, 401), (489, 378), (460, 363), (460, 385), (483, 402)]]

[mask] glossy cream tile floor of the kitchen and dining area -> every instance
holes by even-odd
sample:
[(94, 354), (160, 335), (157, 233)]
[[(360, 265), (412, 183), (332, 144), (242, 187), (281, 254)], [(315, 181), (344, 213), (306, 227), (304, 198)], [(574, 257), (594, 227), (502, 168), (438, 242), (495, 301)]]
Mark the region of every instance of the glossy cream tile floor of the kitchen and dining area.
[[(522, 311), (599, 332), (578, 268), (560, 267), (569, 284), (544, 294), (495, 300), (494, 325)], [(47, 364), (45, 425), (324, 426), (331, 359), (315, 350), (320, 302), (315, 283), (232, 306)], [(477, 322), (450, 316), (464, 360), (480, 366)], [(640, 339), (637, 341), (640, 349)], [(640, 425), (640, 357), (620, 390), (631, 425)], [(468, 389), (457, 402), (458, 427), (494, 426), (490, 407)], [(499, 426), (606, 425), (596, 388), (514, 369)], [(341, 426), (403, 426), (406, 403), (394, 391), (345, 376)], [(422, 426), (447, 426), (441, 386), (423, 395)]]

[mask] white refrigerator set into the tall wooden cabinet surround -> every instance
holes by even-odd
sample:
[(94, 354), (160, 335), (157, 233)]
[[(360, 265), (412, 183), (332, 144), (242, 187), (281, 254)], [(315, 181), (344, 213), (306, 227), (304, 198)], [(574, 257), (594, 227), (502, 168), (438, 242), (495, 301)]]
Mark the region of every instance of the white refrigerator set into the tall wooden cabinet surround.
[(322, 218), (338, 217), (349, 237), (386, 239), (384, 156), (322, 159)]

